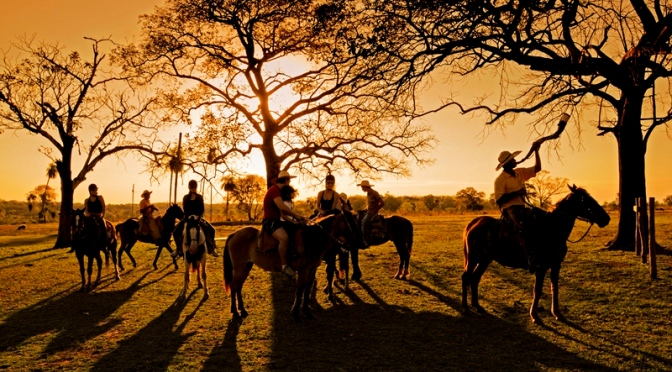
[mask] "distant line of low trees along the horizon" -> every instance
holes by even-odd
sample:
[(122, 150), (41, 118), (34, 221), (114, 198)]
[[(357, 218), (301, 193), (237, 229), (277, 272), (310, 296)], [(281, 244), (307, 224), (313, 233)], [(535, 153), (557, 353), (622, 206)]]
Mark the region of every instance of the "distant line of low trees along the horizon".
[[(466, 211), (488, 211), (497, 210), (492, 200), (486, 200), (482, 195), (469, 195), (469, 197), (456, 196), (394, 196), (390, 194), (383, 195), (385, 199), (385, 208), (382, 214), (399, 214), (399, 215), (437, 215), (437, 214), (451, 214), (464, 213)], [(352, 206), (356, 209), (364, 209), (366, 207), (365, 196), (350, 197)], [(165, 211), (168, 203), (156, 203), (157, 208), (161, 212)], [(302, 215), (310, 215), (315, 208), (315, 198), (308, 198), (307, 200), (298, 200), (294, 203), (295, 209)], [(54, 205), (55, 210), (59, 210), (59, 203)], [(83, 208), (82, 203), (75, 203), (75, 208)], [(131, 204), (108, 204), (105, 217), (113, 222), (124, 221), (130, 217), (137, 217), (139, 212), (136, 203), (133, 208)], [(261, 208), (258, 208), (257, 219), (260, 219)], [(212, 217), (211, 217), (212, 216)], [(212, 221), (226, 221), (226, 205), (223, 203), (212, 204), (212, 214), (210, 212), (210, 204), (206, 203), (205, 218)], [(58, 220), (58, 215), (54, 219), (47, 218), (47, 222)], [(229, 204), (228, 220), (244, 221), (248, 220), (247, 213), (238, 208), (237, 203)], [(28, 203), (25, 201), (6, 201), (0, 200), (0, 224), (13, 225), (22, 223), (38, 223), (38, 216), (35, 209), (28, 210)]]

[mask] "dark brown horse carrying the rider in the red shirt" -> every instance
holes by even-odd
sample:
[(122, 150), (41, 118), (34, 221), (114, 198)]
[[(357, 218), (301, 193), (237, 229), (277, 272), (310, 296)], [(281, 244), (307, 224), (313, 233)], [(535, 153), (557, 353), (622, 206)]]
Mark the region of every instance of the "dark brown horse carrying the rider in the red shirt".
[[(263, 270), (275, 272), (279, 272), (281, 268), (277, 240), (265, 232), (264, 239), (259, 239), (260, 234), (262, 233), (258, 229), (246, 226), (226, 239), (223, 257), (224, 284), (226, 292), (231, 293), (231, 314), (234, 318), (244, 318), (248, 315), (243, 303), (242, 289), (252, 267), (257, 265)], [(347, 247), (347, 242), (352, 242), (354, 239), (343, 214), (312, 221), (302, 228), (301, 237), (303, 252), (296, 257), (288, 257), (289, 264), (298, 273), (291, 310), (291, 315), (297, 322), (301, 321), (301, 312), (307, 319), (315, 318), (308, 301), (315, 282), (315, 272), (322, 262), (324, 253), (334, 246)], [(259, 242), (269, 239), (274, 241), (275, 249), (262, 252), (258, 247)], [(263, 243), (262, 245), (265, 246)]]

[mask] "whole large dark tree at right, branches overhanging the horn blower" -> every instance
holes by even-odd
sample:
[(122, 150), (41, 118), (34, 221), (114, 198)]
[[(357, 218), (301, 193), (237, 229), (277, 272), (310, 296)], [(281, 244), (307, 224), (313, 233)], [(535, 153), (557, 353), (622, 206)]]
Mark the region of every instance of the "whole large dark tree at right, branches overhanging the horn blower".
[(483, 112), (487, 124), (533, 114), (535, 130), (544, 132), (552, 130), (563, 111), (598, 106), (599, 135), (613, 135), (618, 147), (620, 219), (609, 246), (633, 249), (632, 206), (636, 197), (646, 196), (648, 139), (672, 119), (669, 89), (654, 94), (657, 85), (672, 78), (668, 3), (372, 2), (381, 14), (372, 25), (380, 31), (372, 43), (406, 65), (399, 82), (409, 89), (446, 66), (461, 75), (500, 71), (501, 91), (495, 99), (470, 106), (448, 99), (443, 107)]

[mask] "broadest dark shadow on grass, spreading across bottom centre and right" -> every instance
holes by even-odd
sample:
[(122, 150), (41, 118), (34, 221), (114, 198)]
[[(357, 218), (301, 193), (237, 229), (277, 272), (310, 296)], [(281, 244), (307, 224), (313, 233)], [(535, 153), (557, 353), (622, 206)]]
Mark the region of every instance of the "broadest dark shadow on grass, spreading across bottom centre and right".
[[(292, 288), (273, 281), (274, 339), (264, 368), (290, 370), (612, 370), (559, 348), (519, 325), (481, 315), (454, 317), (357, 302), (316, 311), (296, 324)], [(421, 289), (427, 289), (419, 285)], [(368, 295), (375, 288), (365, 289)], [(444, 298), (451, 307), (455, 302)]]

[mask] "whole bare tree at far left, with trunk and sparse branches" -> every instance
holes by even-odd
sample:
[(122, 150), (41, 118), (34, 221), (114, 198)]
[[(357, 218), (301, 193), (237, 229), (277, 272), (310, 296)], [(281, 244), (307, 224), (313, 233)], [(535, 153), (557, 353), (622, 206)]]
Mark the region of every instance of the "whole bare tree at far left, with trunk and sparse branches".
[[(18, 55), (3, 52), (0, 62), (0, 132), (44, 138), (40, 151), (55, 163), (61, 180), (56, 247), (69, 246), (74, 190), (98, 163), (126, 151), (153, 151), (157, 132), (150, 114), (156, 99), (137, 93), (106, 64), (104, 43), (91, 40), (92, 56), (85, 59), (57, 44), (19, 39)], [(82, 155), (79, 170), (73, 170), (75, 147)], [(51, 171), (50, 166), (49, 179)]]

